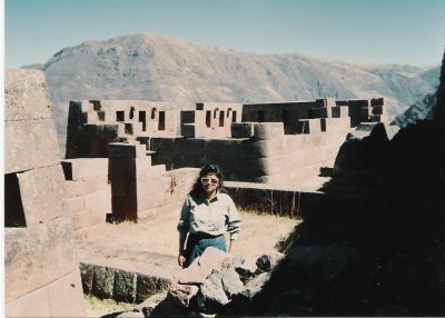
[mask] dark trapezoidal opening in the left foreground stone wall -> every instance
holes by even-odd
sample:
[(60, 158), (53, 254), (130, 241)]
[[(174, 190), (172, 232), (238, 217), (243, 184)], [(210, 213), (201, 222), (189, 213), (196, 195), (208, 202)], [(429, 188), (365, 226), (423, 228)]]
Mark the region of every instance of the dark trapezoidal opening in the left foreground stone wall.
[(17, 173), (4, 175), (4, 227), (27, 227)]

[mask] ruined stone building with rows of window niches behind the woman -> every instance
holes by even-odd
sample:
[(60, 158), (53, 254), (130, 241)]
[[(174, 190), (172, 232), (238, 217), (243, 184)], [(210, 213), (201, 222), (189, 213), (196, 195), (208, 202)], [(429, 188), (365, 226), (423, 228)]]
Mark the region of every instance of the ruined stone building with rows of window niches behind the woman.
[(229, 180), (296, 185), (332, 167), (358, 123), (387, 119), (383, 98), (166, 109), (171, 105), (72, 101), (67, 158), (109, 157), (110, 142), (139, 141), (151, 163), (167, 170), (216, 162)]

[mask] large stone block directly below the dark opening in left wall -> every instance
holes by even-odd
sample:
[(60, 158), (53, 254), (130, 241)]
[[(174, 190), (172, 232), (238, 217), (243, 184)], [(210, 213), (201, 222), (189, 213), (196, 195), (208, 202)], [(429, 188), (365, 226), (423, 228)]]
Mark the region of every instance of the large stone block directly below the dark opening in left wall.
[(70, 218), (4, 229), (6, 301), (41, 288), (77, 267)]

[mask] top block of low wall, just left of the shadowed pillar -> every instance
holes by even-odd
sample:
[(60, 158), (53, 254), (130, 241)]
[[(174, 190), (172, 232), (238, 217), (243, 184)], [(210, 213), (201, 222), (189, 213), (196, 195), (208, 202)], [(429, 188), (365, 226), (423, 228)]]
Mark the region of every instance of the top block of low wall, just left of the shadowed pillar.
[(80, 180), (108, 175), (107, 158), (79, 158), (61, 161), (66, 180)]

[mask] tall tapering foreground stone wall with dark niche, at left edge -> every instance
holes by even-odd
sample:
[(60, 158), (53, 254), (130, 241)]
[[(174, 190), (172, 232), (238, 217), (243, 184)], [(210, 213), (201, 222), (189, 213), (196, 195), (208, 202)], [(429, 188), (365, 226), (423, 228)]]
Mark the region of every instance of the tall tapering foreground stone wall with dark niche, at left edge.
[(7, 70), (7, 317), (85, 317), (65, 177), (43, 72)]

